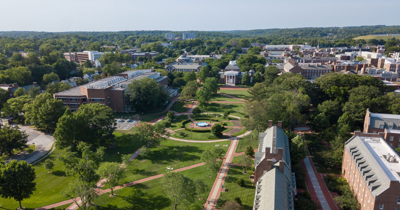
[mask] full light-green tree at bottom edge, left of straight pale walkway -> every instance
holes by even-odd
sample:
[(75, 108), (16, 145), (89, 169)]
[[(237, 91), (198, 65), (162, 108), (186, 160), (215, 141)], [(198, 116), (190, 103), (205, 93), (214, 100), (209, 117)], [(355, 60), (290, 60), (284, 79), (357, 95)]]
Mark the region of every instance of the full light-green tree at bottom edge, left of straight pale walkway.
[(164, 193), (172, 201), (174, 209), (185, 201), (194, 201), (195, 187), (193, 181), (180, 172), (167, 172), (162, 177)]

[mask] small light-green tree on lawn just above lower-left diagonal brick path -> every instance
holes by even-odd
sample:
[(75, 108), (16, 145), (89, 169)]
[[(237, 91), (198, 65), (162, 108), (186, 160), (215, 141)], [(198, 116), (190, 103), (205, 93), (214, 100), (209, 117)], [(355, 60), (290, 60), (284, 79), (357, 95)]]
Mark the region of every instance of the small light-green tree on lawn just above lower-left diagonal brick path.
[(126, 176), (117, 162), (103, 164), (98, 168), (98, 174), (105, 178), (105, 185), (111, 189), (111, 194), (116, 186), (121, 185), (120, 180)]

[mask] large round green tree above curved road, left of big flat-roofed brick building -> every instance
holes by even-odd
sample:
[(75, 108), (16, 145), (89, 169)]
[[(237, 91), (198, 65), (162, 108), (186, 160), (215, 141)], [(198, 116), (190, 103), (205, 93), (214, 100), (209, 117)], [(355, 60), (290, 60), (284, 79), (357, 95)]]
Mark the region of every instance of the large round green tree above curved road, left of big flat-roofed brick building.
[(59, 99), (53, 99), (50, 93), (37, 95), (31, 103), (26, 103), (22, 109), (25, 112), (25, 122), (38, 129), (53, 130), (58, 118), (65, 111), (65, 106)]

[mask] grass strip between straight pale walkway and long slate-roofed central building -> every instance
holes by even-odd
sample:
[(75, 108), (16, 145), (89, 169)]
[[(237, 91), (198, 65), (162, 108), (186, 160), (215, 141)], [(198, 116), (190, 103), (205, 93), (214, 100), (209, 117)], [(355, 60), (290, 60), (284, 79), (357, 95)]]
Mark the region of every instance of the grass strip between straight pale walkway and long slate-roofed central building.
[[(247, 170), (247, 173), (242, 173), (242, 171), (243, 167), (241, 166), (233, 165), (229, 167), (228, 175), (226, 176), (223, 184), (223, 187), (226, 188), (227, 191), (221, 192), (222, 196), (218, 198), (216, 208), (221, 209), (226, 200), (234, 201), (234, 197), (239, 197), (244, 209), (252, 209), (255, 186), (248, 178), (248, 176), (251, 175), (251, 172), (249, 172), (250, 170)], [(239, 186), (236, 184), (236, 180), (239, 178), (244, 179), (244, 186)]]

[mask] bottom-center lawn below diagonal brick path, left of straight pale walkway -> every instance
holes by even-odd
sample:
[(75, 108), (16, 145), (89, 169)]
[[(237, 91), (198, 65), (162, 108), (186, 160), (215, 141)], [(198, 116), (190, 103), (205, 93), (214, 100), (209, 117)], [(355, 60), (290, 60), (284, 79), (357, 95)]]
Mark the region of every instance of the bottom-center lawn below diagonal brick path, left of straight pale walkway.
[[(182, 171), (183, 175), (189, 178), (202, 179), (207, 184), (206, 192), (201, 195), (203, 200), (195, 199), (193, 209), (201, 209), (205, 202), (216, 173), (211, 174), (205, 165)], [(172, 202), (164, 194), (162, 178), (156, 178), (133, 186), (115, 190), (116, 196), (110, 197), (109, 193), (99, 195), (94, 202), (96, 209), (173, 209)], [(196, 197), (197, 198), (197, 197)], [(180, 209), (180, 206), (177, 206)]]

